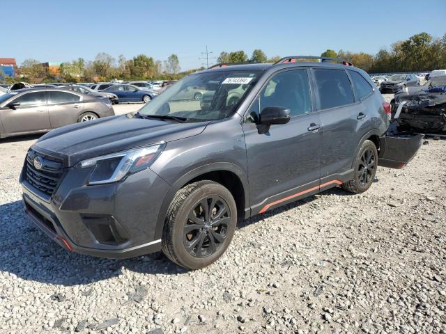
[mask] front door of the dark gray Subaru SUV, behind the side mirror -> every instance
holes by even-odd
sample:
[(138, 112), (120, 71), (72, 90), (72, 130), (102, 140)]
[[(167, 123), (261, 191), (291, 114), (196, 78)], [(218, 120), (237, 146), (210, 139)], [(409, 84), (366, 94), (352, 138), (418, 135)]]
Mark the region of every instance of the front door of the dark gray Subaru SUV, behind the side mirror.
[[(273, 75), (247, 111), (243, 132), (253, 214), (319, 190), (321, 119), (313, 112), (308, 73)], [(266, 106), (290, 109), (291, 120), (259, 134), (259, 115)]]

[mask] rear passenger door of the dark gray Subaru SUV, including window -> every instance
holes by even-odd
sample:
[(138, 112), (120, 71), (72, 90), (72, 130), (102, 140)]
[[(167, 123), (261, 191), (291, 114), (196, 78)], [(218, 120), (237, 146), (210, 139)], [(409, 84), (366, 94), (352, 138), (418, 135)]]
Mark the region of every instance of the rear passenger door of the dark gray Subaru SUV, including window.
[[(314, 85), (322, 120), (321, 183), (348, 179), (356, 150), (367, 132), (367, 108), (357, 99), (343, 69), (314, 67)], [(370, 86), (370, 92), (372, 92)]]

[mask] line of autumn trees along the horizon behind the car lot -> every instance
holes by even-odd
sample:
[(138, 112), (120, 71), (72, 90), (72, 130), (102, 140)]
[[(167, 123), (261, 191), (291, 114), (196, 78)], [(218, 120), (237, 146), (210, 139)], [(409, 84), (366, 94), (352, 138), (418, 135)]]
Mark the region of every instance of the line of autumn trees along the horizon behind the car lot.
[[(327, 49), (321, 56), (343, 58), (351, 61), (353, 65), (369, 73), (389, 72), (424, 72), (446, 68), (446, 33), (443, 38), (435, 38), (429, 33), (417, 33), (407, 40), (394, 42), (390, 49), (380, 49), (377, 54), (366, 52), (352, 52)], [(266, 56), (261, 49), (255, 49), (249, 57), (245, 51), (222, 51), (217, 57), (217, 63), (275, 63), (280, 56)], [(31, 84), (38, 82), (65, 81), (109, 81), (123, 80), (156, 80), (180, 79), (187, 74), (203, 70), (204, 67), (180, 72), (178, 56), (171, 54), (167, 61), (161, 62), (151, 56), (139, 54), (131, 59), (118, 56), (118, 59), (101, 52), (93, 61), (77, 58), (74, 61), (62, 63), (59, 71), (60, 77), (48, 72), (40, 61), (26, 59), (17, 72), (17, 78), (10, 78), (1, 73), (0, 79), (6, 81), (28, 81)]]

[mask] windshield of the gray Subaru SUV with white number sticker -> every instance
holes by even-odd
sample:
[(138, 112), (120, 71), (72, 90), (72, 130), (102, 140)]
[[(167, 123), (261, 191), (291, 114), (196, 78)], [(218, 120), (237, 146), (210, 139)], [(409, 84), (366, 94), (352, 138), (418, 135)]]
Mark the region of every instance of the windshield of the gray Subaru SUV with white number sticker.
[(167, 88), (139, 110), (140, 116), (174, 116), (185, 122), (230, 116), (251, 90), (259, 71), (216, 71), (192, 74)]

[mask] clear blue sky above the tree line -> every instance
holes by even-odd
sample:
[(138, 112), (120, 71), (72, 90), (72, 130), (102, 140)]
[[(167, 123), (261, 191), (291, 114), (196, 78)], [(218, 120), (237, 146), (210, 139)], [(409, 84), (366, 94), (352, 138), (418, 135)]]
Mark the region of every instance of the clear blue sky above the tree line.
[(187, 70), (201, 65), (206, 45), (213, 56), (256, 48), (268, 56), (374, 54), (415, 33), (446, 33), (446, 0), (22, 0), (0, 8), (0, 57), (18, 63), (93, 60), (100, 51), (163, 61), (175, 53)]

